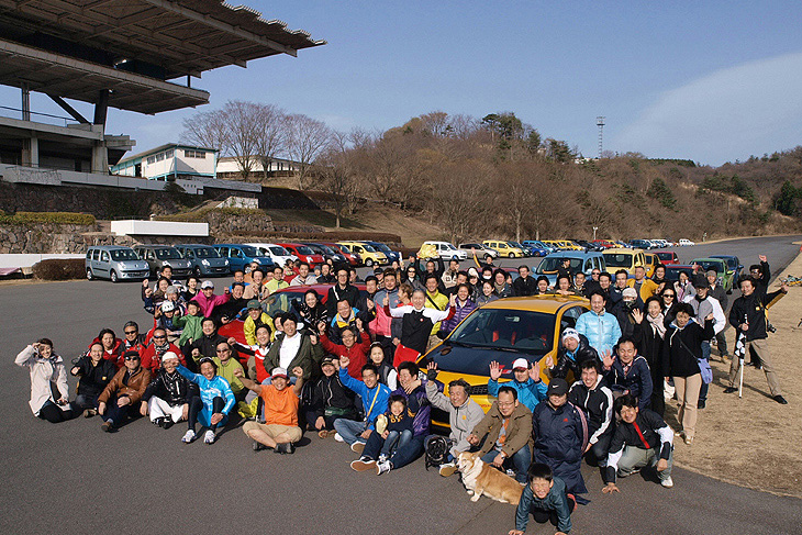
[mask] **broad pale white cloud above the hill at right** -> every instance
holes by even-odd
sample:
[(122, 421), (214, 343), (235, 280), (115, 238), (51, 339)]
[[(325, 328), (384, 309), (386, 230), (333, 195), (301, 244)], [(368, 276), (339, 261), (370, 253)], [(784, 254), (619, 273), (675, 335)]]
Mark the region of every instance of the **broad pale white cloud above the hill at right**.
[(802, 53), (715, 71), (662, 93), (614, 138), (619, 152), (719, 165), (802, 144)]

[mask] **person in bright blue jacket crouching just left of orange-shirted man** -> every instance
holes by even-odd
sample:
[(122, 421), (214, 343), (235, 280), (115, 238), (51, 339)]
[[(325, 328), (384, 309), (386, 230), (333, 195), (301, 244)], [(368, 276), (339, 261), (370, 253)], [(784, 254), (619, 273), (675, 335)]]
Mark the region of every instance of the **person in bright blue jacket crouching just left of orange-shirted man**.
[(200, 397), (196, 395), (189, 402), (189, 428), (181, 437), (181, 442), (189, 444), (196, 439), (196, 425), (200, 420), (207, 427), (203, 442), (213, 444), (216, 438), (219, 425), (225, 425), (229, 421), (229, 412), (234, 406), (234, 392), (229, 381), (218, 375), (218, 365), (209, 357), (200, 359), (200, 374), (192, 374), (187, 368), (178, 365), (176, 370), (183, 377), (200, 387)]

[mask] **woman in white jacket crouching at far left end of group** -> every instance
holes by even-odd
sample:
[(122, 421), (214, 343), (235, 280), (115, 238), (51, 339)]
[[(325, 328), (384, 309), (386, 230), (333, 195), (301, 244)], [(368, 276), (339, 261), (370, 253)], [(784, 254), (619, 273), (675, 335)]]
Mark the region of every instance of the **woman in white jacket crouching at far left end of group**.
[[(53, 353), (53, 342), (42, 338), (29, 345), (16, 355), (14, 364), (31, 370), (29, 404), (34, 416), (54, 424), (73, 417), (69, 408), (67, 369), (62, 357)], [(58, 388), (60, 394), (58, 399), (54, 399), (51, 383), (55, 383)]]

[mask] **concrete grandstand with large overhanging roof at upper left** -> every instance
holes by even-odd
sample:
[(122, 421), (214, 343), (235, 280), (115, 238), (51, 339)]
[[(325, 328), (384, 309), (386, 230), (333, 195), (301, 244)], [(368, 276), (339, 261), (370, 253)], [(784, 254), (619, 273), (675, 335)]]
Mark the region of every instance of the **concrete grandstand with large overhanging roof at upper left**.
[[(191, 87), (204, 70), (323, 44), (220, 0), (0, 0), (0, 85), (22, 92), (19, 116), (0, 116), (3, 178), (108, 175), (136, 144), (105, 133), (109, 107), (155, 114), (205, 104), (209, 92)], [(31, 91), (69, 119), (51, 124), (32, 111)], [(93, 104), (92, 116), (68, 100)]]

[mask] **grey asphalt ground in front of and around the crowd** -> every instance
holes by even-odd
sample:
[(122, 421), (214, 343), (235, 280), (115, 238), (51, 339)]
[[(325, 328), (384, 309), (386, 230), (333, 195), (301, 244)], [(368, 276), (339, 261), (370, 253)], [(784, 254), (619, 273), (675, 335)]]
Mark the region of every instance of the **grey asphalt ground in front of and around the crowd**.
[[(799, 239), (749, 238), (676, 250), (682, 261), (735, 254), (747, 267), (765, 254), (779, 272), (798, 254), (792, 242)], [(521, 260), (502, 265), (508, 264)], [(236, 424), (207, 446), (181, 444), (180, 424), (164, 431), (141, 419), (105, 434), (98, 417), (58, 425), (35, 419), (27, 405), (29, 375), (13, 364), (16, 353), (46, 336), (69, 361), (104, 326), (121, 334), (130, 319), (148, 325), (140, 286), (8, 285), (0, 287), (0, 310), (2, 533), (501, 534), (514, 527), (513, 506), (487, 498), (471, 502), (456, 477), (427, 472), (422, 460), (381, 477), (357, 473), (348, 467), (355, 454), (333, 439), (307, 435), (294, 455), (281, 456), (254, 453)], [(760, 462), (758, 447), (733, 455)], [(681, 468), (673, 470), (672, 490), (644, 473), (622, 480), (622, 493), (611, 497), (601, 494), (597, 469), (586, 466), (583, 475), (591, 503), (575, 513), (572, 533), (791, 534), (802, 525), (798, 499)], [(531, 523), (528, 533), (554, 531)]]

